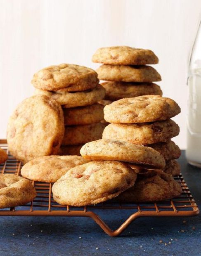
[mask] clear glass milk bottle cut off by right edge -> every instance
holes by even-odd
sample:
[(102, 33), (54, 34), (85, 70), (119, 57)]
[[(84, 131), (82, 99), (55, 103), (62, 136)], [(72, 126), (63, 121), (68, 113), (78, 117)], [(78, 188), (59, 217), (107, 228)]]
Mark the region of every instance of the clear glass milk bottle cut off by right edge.
[(201, 23), (189, 60), (187, 150), (189, 164), (201, 168)]

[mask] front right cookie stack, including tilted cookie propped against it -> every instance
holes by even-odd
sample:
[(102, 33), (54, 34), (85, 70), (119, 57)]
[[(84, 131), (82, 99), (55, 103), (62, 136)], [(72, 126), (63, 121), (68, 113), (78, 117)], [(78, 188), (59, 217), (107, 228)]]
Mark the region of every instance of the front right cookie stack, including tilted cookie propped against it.
[[(125, 98), (104, 107), (104, 119), (111, 123), (104, 129), (103, 139), (85, 144), (80, 153), (94, 161), (124, 162), (138, 173), (135, 184), (115, 200), (162, 201), (181, 194), (182, 188), (170, 175), (174, 173), (170, 162), (168, 171), (165, 168), (165, 159), (180, 155), (170, 140), (179, 133), (179, 126), (170, 118), (179, 113), (175, 101), (159, 95)], [(68, 202), (69, 196), (65, 198)]]

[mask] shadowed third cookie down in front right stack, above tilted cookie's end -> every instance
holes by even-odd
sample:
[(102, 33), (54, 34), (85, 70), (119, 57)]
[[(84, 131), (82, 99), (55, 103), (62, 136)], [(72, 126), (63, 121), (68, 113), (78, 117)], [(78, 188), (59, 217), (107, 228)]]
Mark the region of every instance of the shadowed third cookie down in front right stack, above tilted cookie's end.
[(180, 148), (172, 140), (148, 145), (148, 147), (152, 147), (156, 151), (160, 152), (166, 161), (177, 159), (181, 155)]

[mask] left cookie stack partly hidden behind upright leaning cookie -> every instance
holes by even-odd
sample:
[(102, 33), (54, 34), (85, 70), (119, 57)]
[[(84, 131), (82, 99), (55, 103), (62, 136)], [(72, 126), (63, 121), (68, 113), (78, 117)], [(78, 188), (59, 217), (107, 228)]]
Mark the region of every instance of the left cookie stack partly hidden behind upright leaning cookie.
[(47, 95), (63, 108), (61, 155), (79, 155), (83, 144), (102, 137), (104, 106), (97, 102), (105, 90), (94, 70), (73, 64), (49, 66), (34, 74), (32, 84), (35, 94)]

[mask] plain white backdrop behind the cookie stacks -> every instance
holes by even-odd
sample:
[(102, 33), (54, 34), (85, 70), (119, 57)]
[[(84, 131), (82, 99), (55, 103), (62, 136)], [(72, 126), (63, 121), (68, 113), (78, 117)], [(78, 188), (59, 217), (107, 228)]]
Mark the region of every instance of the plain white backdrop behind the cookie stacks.
[(96, 69), (97, 48), (128, 45), (158, 55), (158, 84), (182, 108), (175, 142), (185, 148), (187, 62), (200, 14), (200, 0), (0, 0), (0, 137), (32, 95), (33, 73), (59, 63)]

